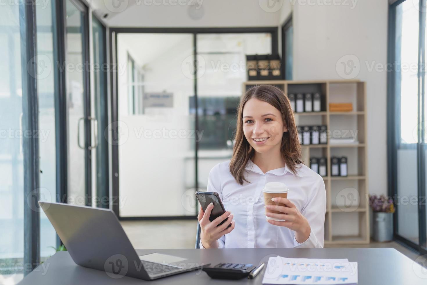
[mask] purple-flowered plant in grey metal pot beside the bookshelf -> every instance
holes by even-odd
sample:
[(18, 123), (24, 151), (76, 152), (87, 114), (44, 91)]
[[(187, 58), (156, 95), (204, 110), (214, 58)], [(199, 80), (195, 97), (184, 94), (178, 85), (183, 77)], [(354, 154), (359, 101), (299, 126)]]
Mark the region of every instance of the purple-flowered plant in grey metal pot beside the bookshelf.
[(391, 197), (369, 195), (373, 212), (373, 235), (375, 241), (393, 240), (393, 213), (395, 206)]

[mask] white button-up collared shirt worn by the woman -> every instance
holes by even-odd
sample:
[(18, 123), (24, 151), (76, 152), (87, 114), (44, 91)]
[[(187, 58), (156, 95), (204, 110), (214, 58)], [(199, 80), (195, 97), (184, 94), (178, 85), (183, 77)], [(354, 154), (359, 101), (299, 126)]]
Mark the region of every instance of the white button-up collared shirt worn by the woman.
[[(251, 160), (246, 165), (246, 179), (240, 185), (231, 175), (230, 161), (215, 165), (209, 173), (208, 192), (216, 192), (226, 211), (234, 214), (234, 229), (219, 238), (219, 248), (289, 248), (323, 247), (325, 238), (326, 190), (322, 176), (306, 165), (296, 175), (285, 166), (263, 173)], [(267, 222), (262, 189), (267, 182), (282, 182), (289, 188), (288, 199), (307, 218), (310, 237), (302, 244), (295, 232)], [(202, 242), (200, 242), (200, 248)]]

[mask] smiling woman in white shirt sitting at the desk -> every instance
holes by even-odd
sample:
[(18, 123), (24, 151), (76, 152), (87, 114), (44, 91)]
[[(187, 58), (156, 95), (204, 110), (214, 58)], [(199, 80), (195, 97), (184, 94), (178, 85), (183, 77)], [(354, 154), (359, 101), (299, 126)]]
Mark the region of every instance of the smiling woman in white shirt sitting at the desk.
[[(206, 212), (200, 208), (200, 248), (323, 247), (325, 183), (302, 164), (283, 91), (272, 85), (250, 88), (240, 100), (235, 139), (231, 160), (213, 167), (208, 179), (207, 191), (217, 192), (227, 211), (211, 222), (212, 203)], [(289, 188), (288, 199), (275, 201), (286, 207), (266, 206), (280, 214), (265, 212), (262, 189), (267, 182)]]

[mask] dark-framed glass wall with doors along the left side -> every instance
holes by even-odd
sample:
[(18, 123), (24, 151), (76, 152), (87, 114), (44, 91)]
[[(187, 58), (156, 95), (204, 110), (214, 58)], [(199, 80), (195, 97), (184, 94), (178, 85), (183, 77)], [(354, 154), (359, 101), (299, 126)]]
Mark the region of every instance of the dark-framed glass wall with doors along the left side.
[[(15, 284), (59, 245), (38, 200), (90, 203), (89, 150), (94, 195), (108, 196), (106, 139), (96, 138), (107, 126), (106, 74), (94, 72), (89, 112), (88, 7), (39, 4), (9, 1), (0, 9), (0, 284)], [(94, 64), (103, 71), (105, 28), (97, 19), (93, 26)], [(96, 206), (108, 207), (108, 199)]]

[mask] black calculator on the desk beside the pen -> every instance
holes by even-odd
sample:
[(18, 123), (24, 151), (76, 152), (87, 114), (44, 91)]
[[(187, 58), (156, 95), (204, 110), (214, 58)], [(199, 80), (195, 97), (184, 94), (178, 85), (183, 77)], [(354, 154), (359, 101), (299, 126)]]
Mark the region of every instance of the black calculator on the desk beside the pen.
[(215, 279), (241, 279), (247, 277), (255, 266), (244, 263), (219, 263), (214, 267), (204, 267), (202, 270)]

